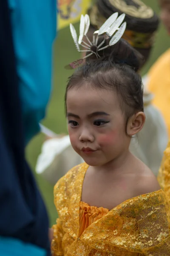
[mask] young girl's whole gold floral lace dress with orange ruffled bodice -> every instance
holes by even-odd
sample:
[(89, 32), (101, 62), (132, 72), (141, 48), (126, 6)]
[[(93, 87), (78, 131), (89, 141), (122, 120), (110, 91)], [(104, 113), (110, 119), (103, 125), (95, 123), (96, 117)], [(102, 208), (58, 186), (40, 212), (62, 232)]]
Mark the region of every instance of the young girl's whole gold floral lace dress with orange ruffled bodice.
[[(170, 255), (170, 207), (163, 190), (131, 198), (111, 211), (88, 209), (81, 202), (87, 169), (86, 163), (74, 167), (54, 187), (59, 218), (53, 226), (52, 255)], [(83, 215), (89, 213), (83, 221)]]

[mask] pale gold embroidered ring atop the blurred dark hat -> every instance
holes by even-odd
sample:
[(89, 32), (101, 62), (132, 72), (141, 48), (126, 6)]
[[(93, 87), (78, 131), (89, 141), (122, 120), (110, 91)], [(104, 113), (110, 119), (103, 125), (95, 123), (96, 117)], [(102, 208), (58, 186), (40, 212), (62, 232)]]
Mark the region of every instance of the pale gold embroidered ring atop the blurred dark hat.
[(141, 18), (141, 19), (150, 19), (153, 17), (154, 12), (153, 10), (146, 6), (141, 0), (133, 0), (134, 3), (139, 5), (139, 8), (136, 6), (129, 6), (125, 2), (125, 0), (109, 0), (112, 6), (121, 10), (127, 15), (132, 17)]

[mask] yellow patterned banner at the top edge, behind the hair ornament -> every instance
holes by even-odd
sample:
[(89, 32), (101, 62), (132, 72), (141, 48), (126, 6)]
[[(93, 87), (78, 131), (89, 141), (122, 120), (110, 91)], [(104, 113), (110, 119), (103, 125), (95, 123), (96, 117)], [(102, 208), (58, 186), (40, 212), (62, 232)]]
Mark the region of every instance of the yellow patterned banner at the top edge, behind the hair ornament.
[(79, 21), (85, 15), (91, 0), (58, 0), (58, 29)]

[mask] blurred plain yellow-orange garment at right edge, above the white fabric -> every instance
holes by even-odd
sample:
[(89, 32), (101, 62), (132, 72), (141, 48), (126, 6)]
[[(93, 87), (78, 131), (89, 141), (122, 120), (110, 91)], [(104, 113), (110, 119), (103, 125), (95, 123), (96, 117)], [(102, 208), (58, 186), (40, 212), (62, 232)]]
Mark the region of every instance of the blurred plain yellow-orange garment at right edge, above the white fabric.
[(149, 71), (148, 90), (153, 93), (153, 105), (161, 111), (170, 137), (170, 49), (168, 49)]

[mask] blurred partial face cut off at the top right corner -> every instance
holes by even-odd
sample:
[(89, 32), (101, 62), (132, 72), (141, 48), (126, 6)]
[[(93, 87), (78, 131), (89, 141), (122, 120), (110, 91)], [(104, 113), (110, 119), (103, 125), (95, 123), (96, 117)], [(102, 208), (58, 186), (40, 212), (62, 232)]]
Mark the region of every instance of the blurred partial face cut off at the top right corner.
[(159, 0), (161, 7), (161, 20), (170, 35), (170, 0)]

